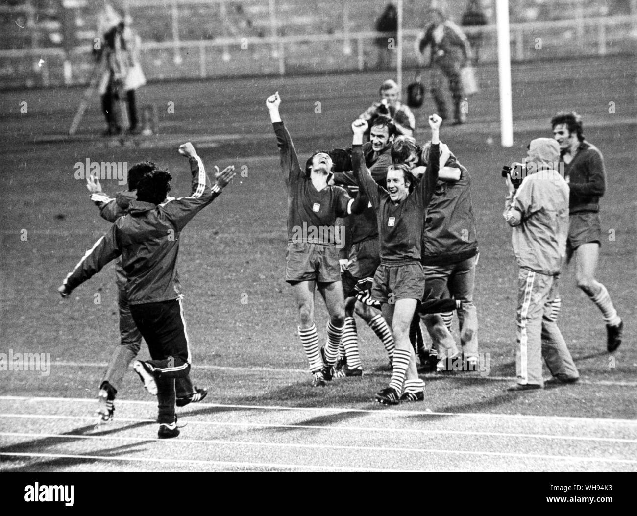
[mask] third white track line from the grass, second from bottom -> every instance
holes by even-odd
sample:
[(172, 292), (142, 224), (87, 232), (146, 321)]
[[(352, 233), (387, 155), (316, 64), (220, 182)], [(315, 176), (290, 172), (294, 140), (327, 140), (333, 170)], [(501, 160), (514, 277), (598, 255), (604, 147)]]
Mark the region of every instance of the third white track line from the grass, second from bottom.
[[(11, 434), (6, 434), (11, 435)], [(20, 434), (14, 434), (20, 435)], [(108, 437), (108, 436), (69, 436), (60, 434), (24, 434), (34, 437), (59, 437), (59, 438), (79, 438), (79, 439), (97, 439), (97, 440), (120, 440), (120, 441), (164, 441), (164, 439), (143, 437)], [(518, 459), (547, 459), (559, 461), (579, 461), (579, 462), (618, 462), (620, 464), (637, 464), (637, 460), (633, 459), (610, 459), (606, 457), (578, 457), (577, 455), (540, 455), (540, 454), (517, 454), (513, 452), (475, 452), (472, 450), (440, 450), (439, 448), (389, 448), (389, 447), (368, 447), (368, 446), (345, 446), (345, 445), (308, 445), (297, 443), (269, 443), (254, 441), (224, 441), (224, 440), (204, 440), (204, 439), (180, 439), (169, 441), (172, 443), (189, 443), (189, 444), (220, 444), (220, 445), (245, 445), (245, 446), (264, 446), (276, 448), (318, 448), (322, 450), (358, 450), (368, 452), (414, 452), (419, 454), (445, 454), (445, 455), (483, 455), (487, 457), (515, 457)], [(141, 443), (141, 442), (140, 442)], [(358, 468), (354, 468), (357, 470)], [(392, 471), (392, 470), (389, 470)]]

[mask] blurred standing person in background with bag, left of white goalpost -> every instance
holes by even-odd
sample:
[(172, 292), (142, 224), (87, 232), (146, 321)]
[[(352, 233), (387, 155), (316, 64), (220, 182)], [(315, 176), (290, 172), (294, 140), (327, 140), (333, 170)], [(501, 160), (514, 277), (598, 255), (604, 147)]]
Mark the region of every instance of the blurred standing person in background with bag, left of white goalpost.
[(462, 113), (461, 70), (471, 57), (471, 46), (464, 32), (451, 20), (446, 20), (442, 11), (429, 11), (431, 24), (416, 40), (417, 50), (424, 55), (426, 47), (431, 47), (429, 66), (433, 71), (431, 95), (436, 103), (436, 111), (443, 118), (448, 117), (447, 103), (443, 95), (443, 80), (449, 81), (449, 89), (454, 101), (454, 125), (464, 124), (466, 115)]

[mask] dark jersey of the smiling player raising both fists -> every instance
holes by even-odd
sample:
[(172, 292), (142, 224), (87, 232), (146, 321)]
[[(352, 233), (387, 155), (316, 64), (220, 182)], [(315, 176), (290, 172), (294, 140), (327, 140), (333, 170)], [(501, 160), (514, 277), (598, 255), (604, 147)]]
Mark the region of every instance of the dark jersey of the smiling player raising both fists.
[(438, 181), (440, 146), (431, 146), (431, 166), (406, 199), (394, 203), (389, 192), (366, 173), (362, 146), (352, 147), (352, 165), (360, 187), (376, 210), (380, 235), (380, 260), (385, 264), (407, 263), (420, 260), (420, 240), (424, 224), (424, 211), (433, 196)]

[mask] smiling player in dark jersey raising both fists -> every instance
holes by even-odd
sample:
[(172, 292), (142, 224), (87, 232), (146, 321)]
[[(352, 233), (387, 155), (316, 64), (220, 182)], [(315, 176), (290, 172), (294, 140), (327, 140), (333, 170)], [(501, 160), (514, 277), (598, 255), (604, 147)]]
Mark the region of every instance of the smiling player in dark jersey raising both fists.
[(382, 305), (385, 320), (394, 332), (394, 361), (389, 386), (376, 394), (378, 403), (396, 405), (400, 401), (424, 399), (424, 382), (418, 377), (416, 359), (409, 340), (409, 328), (417, 302), (425, 289), (420, 264), (420, 243), (424, 210), (433, 196), (440, 157), (439, 129), (442, 119), (429, 117), (432, 132), (431, 166), (419, 183), (408, 166), (392, 166), (387, 171), (387, 189), (366, 173), (362, 159), (362, 137), (367, 122), (352, 124), (352, 165), (359, 187), (376, 210), (380, 235), (380, 266), (376, 269), (372, 296)]

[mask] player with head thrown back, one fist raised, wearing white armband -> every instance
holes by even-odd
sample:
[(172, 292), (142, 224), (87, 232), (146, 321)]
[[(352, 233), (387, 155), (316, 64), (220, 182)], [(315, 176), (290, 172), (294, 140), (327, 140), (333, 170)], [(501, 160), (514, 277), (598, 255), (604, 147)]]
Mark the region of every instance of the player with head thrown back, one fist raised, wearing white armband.
[[(342, 231), (334, 222), (336, 217), (352, 213), (354, 199), (341, 187), (328, 185), (333, 162), (327, 152), (315, 152), (308, 160), (306, 170), (301, 169), (290, 133), (279, 114), (280, 104), (278, 92), (266, 101), (288, 192), (285, 281), (292, 285), (296, 297), (301, 319), (299, 336), (310, 362), (312, 384), (322, 387), (326, 380), (333, 377), (345, 321), (337, 248), (342, 243)], [(321, 358), (314, 324), (317, 287), (329, 313), (325, 363)]]

